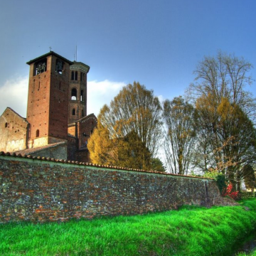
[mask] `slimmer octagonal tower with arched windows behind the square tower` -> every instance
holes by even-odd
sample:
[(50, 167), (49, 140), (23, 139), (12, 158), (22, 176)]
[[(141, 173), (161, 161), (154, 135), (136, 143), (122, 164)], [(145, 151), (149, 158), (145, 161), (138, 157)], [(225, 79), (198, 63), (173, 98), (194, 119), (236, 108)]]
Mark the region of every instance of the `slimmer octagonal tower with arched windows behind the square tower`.
[(70, 66), (68, 124), (87, 115), (87, 73), (89, 70), (88, 65), (76, 61)]

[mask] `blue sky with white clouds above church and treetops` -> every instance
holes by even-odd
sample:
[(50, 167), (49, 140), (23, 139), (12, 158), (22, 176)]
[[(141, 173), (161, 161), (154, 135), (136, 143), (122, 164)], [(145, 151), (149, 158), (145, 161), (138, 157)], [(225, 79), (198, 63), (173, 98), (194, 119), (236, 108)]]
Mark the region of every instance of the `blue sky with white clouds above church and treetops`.
[(0, 114), (26, 117), (26, 62), (49, 47), (74, 60), (77, 46), (90, 65), (87, 114), (134, 80), (160, 99), (183, 95), (198, 62), (218, 50), (256, 67), (255, 13), (255, 0), (1, 1)]

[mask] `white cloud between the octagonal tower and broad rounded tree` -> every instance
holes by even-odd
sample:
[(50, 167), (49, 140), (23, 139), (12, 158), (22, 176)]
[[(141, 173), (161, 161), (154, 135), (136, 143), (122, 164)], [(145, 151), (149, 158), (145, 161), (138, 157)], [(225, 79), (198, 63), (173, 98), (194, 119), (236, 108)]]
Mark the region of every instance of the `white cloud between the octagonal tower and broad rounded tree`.
[(124, 82), (104, 81), (88, 81), (87, 82), (87, 114), (100, 113), (103, 105), (110, 105), (110, 101), (118, 94), (118, 92), (126, 84)]

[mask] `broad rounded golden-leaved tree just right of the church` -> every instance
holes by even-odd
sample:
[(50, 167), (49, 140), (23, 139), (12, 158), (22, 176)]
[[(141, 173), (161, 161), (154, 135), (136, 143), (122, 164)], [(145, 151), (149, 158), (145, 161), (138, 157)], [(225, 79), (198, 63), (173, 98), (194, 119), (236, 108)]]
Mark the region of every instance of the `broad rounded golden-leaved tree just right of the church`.
[[(149, 169), (148, 159), (156, 156), (161, 139), (161, 111), (159, 99), (152, 90), (146, 90), (139, 82), (123, 87), (110, 106), (104, 105), (100, 110), (100, 126), (97, 127), (100, 131), (95, 129), (95, 135), (92, 134), (88, 142), (92, 161), (97, 164), (114, 162), (125, 167), (132, 167), (132, 162), (137, 161), (137, 166)], [(100, 133), (105, 136), (102, 138), (106, 143), (105, 153), (105, 149), (97, 150), (97, 145), (103, 143), (100, 135), (97, 139)]]

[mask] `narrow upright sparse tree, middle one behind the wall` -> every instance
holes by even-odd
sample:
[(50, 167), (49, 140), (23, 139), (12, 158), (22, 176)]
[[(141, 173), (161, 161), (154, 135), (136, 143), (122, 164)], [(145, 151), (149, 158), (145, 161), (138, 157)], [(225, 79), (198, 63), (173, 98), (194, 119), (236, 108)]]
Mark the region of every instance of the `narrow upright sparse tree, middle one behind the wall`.
[(187, 174), (191, 164), (195, 130), (193, 106), (180, 97), (164, 102), (166, 165), (173, 174)]

